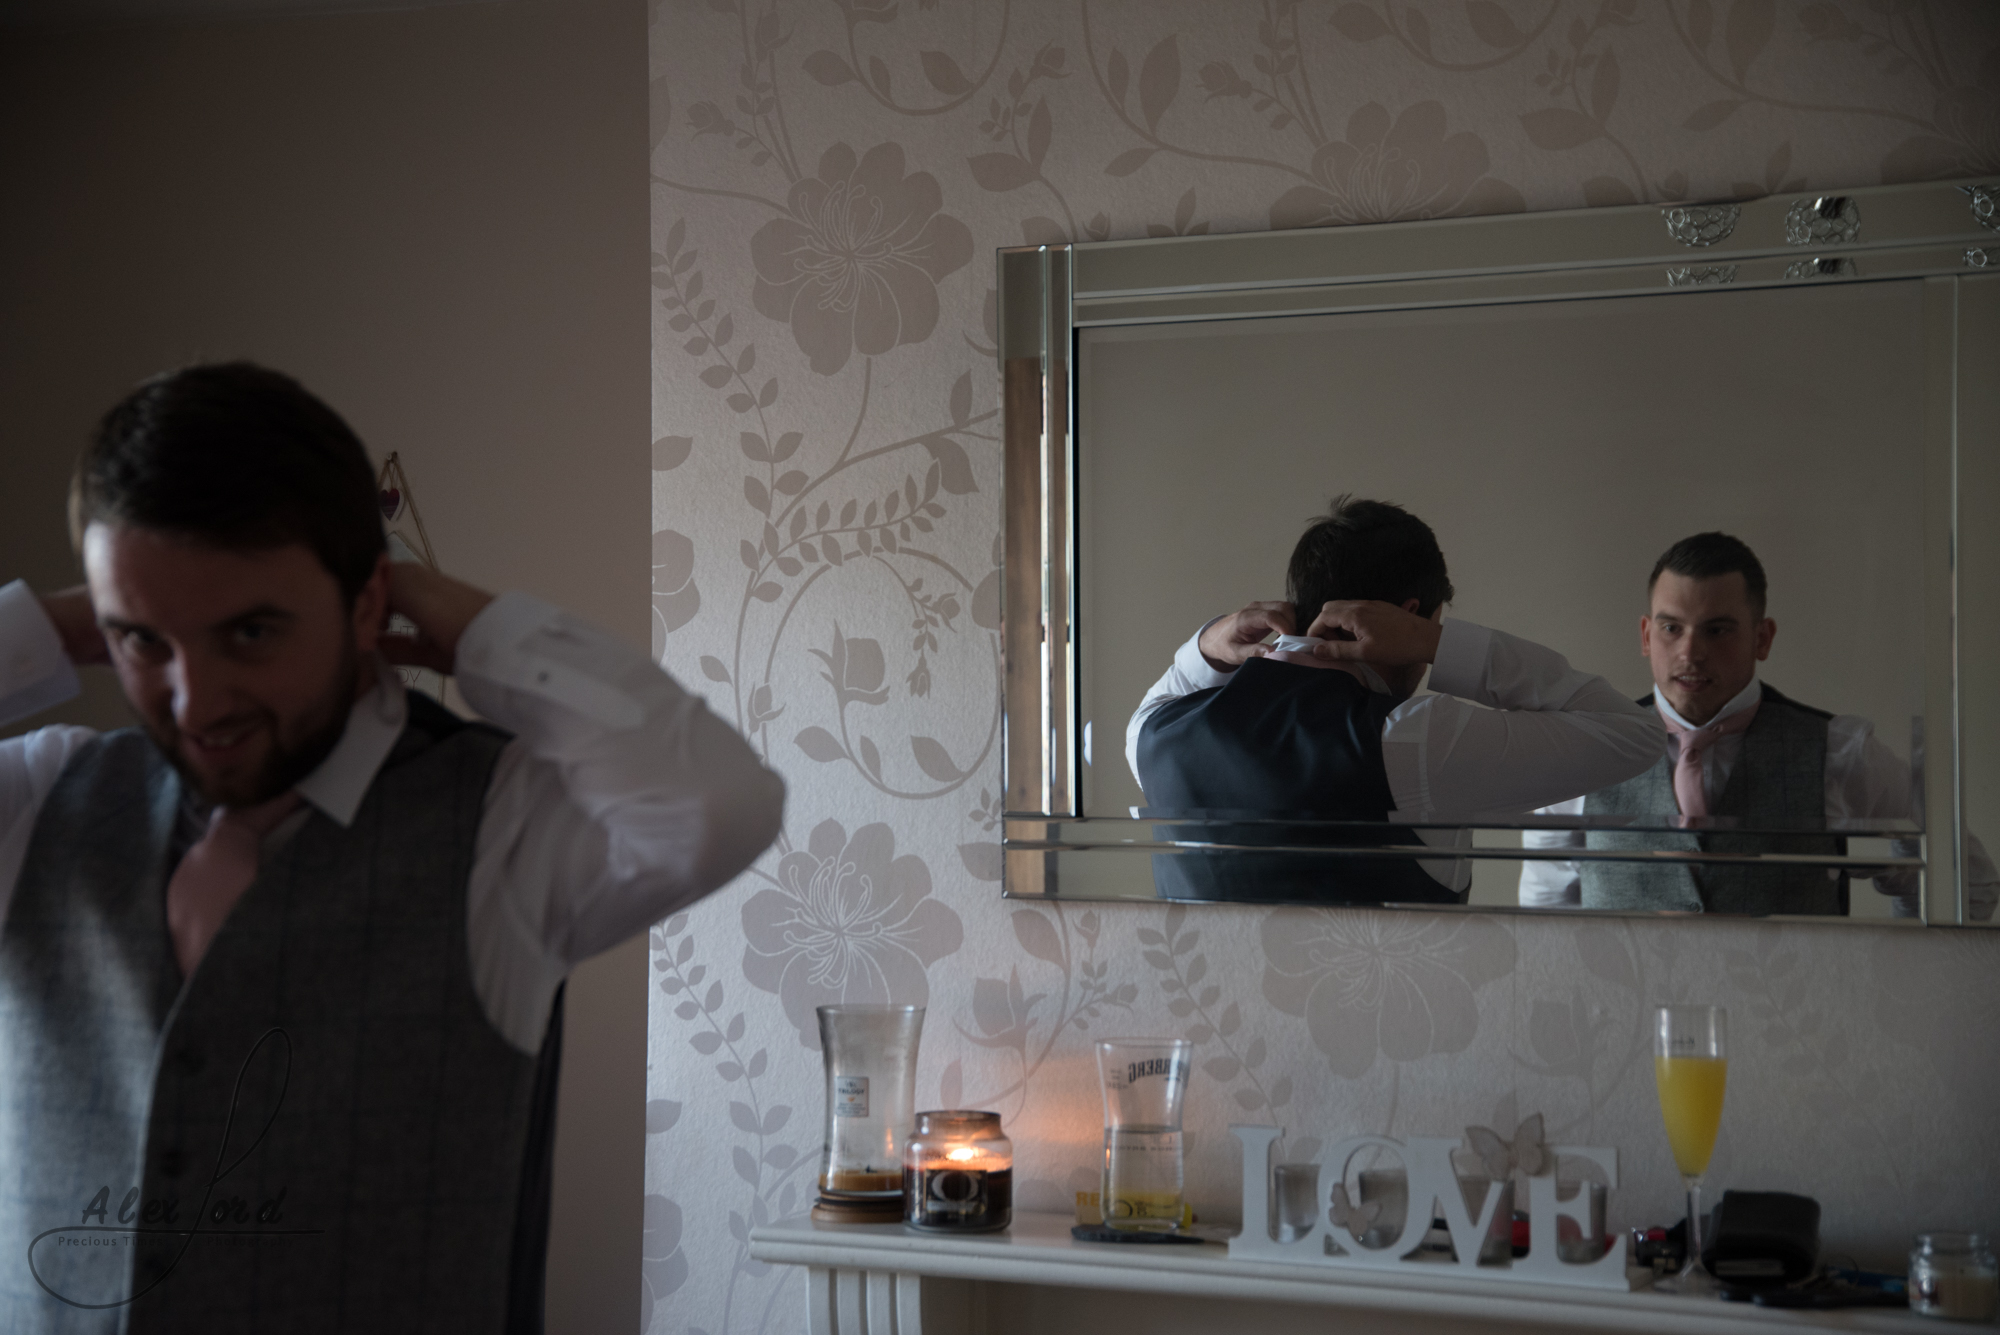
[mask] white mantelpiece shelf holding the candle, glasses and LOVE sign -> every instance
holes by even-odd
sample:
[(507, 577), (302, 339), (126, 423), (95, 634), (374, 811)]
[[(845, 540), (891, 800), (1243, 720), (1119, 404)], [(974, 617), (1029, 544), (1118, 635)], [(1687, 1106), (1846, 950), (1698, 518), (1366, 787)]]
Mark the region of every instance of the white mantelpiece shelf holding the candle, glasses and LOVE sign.
[(1066, 1215), (1024, 1211), (1004, 1233), (968, 1237), (912, 1233), (902, 1225), (786, 1219), (754, 1229), (750, 1255), (806, 1267), (804, 1329), (810, 1335), (1104, 1335), (1114, 1329), (1292, 1335), (1334, 1329), (1334, 1311), (1340, 1335), (1536, 1329), (1938, 1335), (1950, 1329), (1902, 1311), (1772, 1311), (1644, 1291), (1496, 1283), (1460, 1277), (1446, 1265), (1416, 1279), (1230, 1261), (1222, 1243), (1078, 1243)]

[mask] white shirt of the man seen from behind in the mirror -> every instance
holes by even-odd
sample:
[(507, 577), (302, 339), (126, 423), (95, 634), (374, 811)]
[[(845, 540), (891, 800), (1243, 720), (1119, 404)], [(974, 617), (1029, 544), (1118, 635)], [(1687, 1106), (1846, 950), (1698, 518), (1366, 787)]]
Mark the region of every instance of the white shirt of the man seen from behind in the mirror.
[[(1200, 642), (1202, 632), (1194, 632), (1180, 646), (1126, 725), (1126, 763), (1142, 789), (1138, 733), (1146, 717), (1230, 679), (1202, 656)], [(1388, 693), (1372, 669), (1362, 668), (1362, 679)], [(1428, 685), (1434, 695), (1412, 695), (1382, 723), (1382, 767), (1396, 801), (1388, 819), (1396, 823), (1518, 815), (1578, 785), (1594, 791), (1644, 773), (1666, 743), (1660, 717), (1604, 677), (1530, 640), (1456, 618), (1444, 620)], [(1470, 847), (1464, 829), (1416, 833), (1432, 847)], [(1472, 881), (1464, 859), (1418, 865), (1452, 891)]]

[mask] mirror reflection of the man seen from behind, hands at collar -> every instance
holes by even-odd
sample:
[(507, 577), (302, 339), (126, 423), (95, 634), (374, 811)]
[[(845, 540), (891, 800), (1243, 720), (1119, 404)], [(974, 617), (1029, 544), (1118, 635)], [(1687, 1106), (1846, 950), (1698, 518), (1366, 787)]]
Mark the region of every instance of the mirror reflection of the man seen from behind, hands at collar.
[[(1462, 847), (1458, 829), (1396, 825), (1522, 813), (1660, 757), (1658, 715), (1602, 677), (1446, 620), (1444, 554), (1400, 506), (1334, 500), (1292, 550), (1286, 592), (1204, 626), (1146, 691), (1126, 761), (1150, 807), (1378, 825), (1232, 831), (1242, 841)], [(1436, 693), (1416, 695), (1426, 671)], [(1154, 867), (1162, 893), (1190, 897), (1458, 903), (1472, 885), (1454, 857), (1162, 855)]]

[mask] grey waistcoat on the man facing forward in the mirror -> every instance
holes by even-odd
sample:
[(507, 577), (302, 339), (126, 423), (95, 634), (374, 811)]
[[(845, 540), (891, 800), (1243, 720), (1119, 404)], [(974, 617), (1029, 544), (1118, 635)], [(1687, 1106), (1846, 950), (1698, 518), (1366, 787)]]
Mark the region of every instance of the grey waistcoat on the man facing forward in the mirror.
[[(1652, 705), (1652, 695), (1640, 699)], [(1746, 827), (1808, 829), (1826, 819), (1826, 721), (1830, 713), (1780, 695), (1770, 685), (1756, 719), (1744, 731), (1742, 753), (1730, 769), (1710, 815), (1730, 815)], [(1664, 755), (1646, 773), (1590, 793), (1584, 815), (1652, 815), (1680, 811), (1674, 801), (1674, 765)], [(1626, 833), (1592, 829), (1594, 849), (1704, 849), (1710, 853), (1846, 853), (1838, 835), (1746, 833)], [(1640, 861), (1582, 863), (1586, 909), (1674, 909), (1682, 913), (1846, 913), (1846, 877), (1826, 867), (1748, 867)]]

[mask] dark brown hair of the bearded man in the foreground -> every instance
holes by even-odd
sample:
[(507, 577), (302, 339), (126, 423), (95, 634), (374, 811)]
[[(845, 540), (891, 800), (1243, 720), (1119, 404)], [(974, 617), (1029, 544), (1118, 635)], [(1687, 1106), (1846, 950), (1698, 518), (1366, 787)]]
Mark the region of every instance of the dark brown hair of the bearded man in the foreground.
[(360, 438), (250, 362), (154, 376), (104, 414), (70, 486), (78, 546), (100, 522), (236, 552), (302, 544), (348, 602), (388, 550)]

